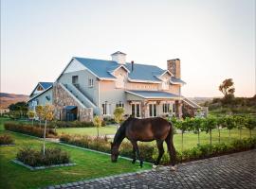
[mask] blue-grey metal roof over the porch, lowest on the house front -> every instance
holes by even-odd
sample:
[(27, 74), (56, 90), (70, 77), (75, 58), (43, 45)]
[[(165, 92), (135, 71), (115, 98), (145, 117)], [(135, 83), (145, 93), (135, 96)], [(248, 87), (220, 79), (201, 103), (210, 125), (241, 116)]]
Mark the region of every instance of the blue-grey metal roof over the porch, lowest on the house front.
[(129, 90), (129, 91), (126, 91), (126, 93), (135, 94), (135, 95), (143, 97), (143, 98), (180, 98), (181, 97), (176, 94), (170, 94), (167, 92), (158, 92), (158, 91)]

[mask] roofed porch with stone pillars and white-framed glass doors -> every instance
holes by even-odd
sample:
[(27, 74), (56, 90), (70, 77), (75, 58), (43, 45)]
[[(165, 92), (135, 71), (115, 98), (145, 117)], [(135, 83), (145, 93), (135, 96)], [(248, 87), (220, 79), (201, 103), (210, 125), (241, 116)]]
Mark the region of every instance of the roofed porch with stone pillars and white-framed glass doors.
[(134, 117), (182, 116), (182, 96), (158, 91), (126, 91)]

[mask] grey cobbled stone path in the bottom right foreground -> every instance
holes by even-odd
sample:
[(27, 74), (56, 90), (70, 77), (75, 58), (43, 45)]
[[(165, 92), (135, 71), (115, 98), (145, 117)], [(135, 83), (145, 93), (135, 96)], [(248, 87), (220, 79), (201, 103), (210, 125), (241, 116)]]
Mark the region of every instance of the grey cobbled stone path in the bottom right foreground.
[[(132, 164), (131, 164), (132, 166)], [(133, 174), (48, 188), (256, 188), (256, 149)]]

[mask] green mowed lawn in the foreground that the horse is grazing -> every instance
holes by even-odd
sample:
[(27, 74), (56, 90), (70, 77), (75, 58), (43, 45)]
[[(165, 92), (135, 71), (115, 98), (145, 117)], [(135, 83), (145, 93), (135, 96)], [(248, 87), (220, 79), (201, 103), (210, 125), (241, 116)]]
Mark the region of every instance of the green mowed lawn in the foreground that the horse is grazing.
[[(3, 123), (3, 120), (1, 122)], [(146, 163), (143, 168), (139, 168), (138, 163), (132, 164), (123, 159), (119, 159), (118, 163), (111, 163), (110, 157), (107, 155), (47, 142), (46, 147), (58, 146), (68, 151), (71, 161), (77, 164), (69, 167), (30, 171), (26, 167), (12, 163), (11, 160), (15, 159), (16, 153), (21, 147), (31, 146), (40, 149), (43, 141), (3, 130), (2, 123), (0, 124), (0, 134), (8, 133), (14, 137), (15, 146), (0, 146), (0, 188), (38, 188), (151, 168), (151, 165)]]

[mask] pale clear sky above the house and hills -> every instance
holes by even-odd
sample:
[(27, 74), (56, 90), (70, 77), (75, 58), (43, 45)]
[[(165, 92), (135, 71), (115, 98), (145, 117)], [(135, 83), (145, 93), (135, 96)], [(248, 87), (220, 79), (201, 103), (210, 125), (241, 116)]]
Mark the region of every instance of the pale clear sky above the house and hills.
[(72, 57), (167, 68), (181, 60), (182, 94), (256, 92), (255, 0), (1, 0), (1, 92), (30, 94), (55, 81)]

